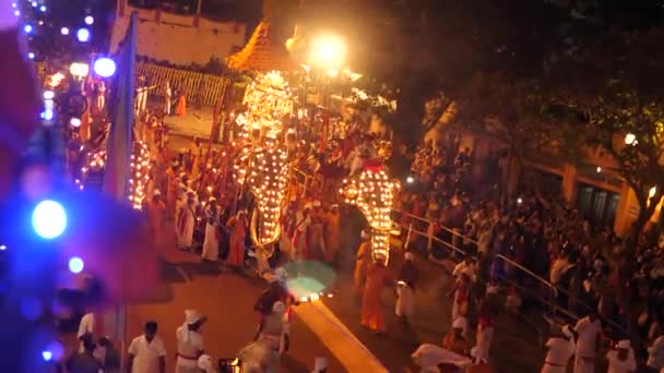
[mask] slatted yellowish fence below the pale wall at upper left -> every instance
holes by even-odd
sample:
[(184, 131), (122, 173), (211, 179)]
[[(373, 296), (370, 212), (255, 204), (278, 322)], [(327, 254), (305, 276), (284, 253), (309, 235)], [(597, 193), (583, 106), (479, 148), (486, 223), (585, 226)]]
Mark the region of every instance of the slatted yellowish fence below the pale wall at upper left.
[(221, 75), (203, 74), (143, 62), (137, 64), (135, 72), (139, 75), (144, 75), (150, 85), (156, 85), (155, 89), (151, 91), (151, 95), (164, 97), (166, 82), (169, 82), (171, 87), (183, 88), (187, 100), (190, 103), (198, 100), (199, 88), (201, 82), (204, 81), (205, 89), (203, 91), (202, 105), (206, 106), (216, 105), (224, 93), (224, 82), (226, 81), (226, 77)]

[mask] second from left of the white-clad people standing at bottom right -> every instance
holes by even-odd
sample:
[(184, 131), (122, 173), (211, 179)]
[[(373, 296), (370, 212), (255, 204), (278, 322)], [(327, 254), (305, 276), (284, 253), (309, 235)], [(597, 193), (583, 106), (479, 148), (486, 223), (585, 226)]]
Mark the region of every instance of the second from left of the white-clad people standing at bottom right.
[(602, 322), (594, 313), (579, 320), (574, 326), (579, 334), (574, 356), (574, 373), (595, 372), (595, 351), (602, 333)]

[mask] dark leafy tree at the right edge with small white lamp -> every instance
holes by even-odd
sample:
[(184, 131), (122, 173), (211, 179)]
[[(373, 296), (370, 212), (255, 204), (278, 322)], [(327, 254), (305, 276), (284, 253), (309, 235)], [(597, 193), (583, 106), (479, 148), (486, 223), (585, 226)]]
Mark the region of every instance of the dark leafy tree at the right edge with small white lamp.
[(632, 248), (664, 195), (664, 53), (653, 48), (663, 35), (661, 28), (589, 33), (547, 76), (552, 103), (577, 113), (578, 140), (607, 152), (635, 191)]

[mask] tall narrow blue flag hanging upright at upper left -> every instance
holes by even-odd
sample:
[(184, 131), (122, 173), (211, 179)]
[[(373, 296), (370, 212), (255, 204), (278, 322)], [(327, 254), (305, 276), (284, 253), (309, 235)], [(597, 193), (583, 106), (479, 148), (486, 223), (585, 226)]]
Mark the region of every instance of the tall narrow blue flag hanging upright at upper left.
[(110, 131), (106, 141), (104, 192), (126, 201), (131, 177), (132, 128), (134, 121), (134, 61), (137, 56), (138, 13), (131, 14), (127, 36), (117, 53), (116, 84), (109, 97)]

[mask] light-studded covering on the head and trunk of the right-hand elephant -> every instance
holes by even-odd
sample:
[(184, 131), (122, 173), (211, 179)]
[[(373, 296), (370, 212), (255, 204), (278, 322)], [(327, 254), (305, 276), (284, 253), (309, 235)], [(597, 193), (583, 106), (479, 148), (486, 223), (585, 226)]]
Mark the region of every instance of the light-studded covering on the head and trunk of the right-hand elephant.
[(387, 265), (390, 260), (390, 234), (394, 227), (390, 213), (400, 188), (382, 169), (367, 169), (358, 177), (344, 180), (339, 190), (344, 202), (357, 206), (369, 222), (375, 263)]

